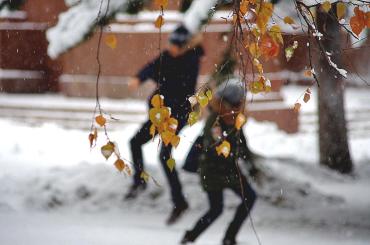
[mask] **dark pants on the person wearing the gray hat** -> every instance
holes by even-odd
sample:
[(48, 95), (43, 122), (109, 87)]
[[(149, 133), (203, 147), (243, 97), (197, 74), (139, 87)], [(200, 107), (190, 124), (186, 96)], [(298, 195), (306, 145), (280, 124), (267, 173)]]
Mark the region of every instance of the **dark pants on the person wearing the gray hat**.
[[(238, 206), (234, 219), (230, 222), (229, 227), (226, 230), (224, 239), (235, 240), (236, 234), (253, 207), (256, 200), (256, 193), (246, 180), (243, 181), (243, 191), (241, 188), (235, 188), (232, 190), (242, 199), (242, 202)], [(198, 220), (194, 228), (189, 231), (189, 235), (192, 240), (195, 240), (203, 231), (205, 231), (222, 213), (223, 191), (207, 192), (207, 195), (210, 209)]]

